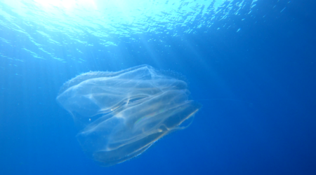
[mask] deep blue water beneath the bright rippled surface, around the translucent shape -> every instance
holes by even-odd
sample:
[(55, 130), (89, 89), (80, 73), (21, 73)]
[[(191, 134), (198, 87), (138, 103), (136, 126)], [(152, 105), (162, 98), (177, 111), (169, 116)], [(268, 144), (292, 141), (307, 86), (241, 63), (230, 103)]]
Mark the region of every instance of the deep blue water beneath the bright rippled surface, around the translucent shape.
[[(256, 15), (265, 17), (237, 24), (239, 32), (200, 29), (184, 41), (165, 38), (171, 48), (147, 42), (146, 34), (138, 36), (143, 43), (122, 42), (110, 48), (119, 62), (93, 59), (93, 50), (86, 64), (30, 59), (9, 66), (2, 59), (0, 174), (315, 174), (316, 4), (291, 1), (280, 13), (274, 2), (258, 2)], [(1, 50), (23, 57), (16, 40)], [(81, 151), (77, 127), (55, 97), (81, 72), (139, 64), (183, 74), (203, 108), (190, 127), (137, 158), (99, 167)]]

